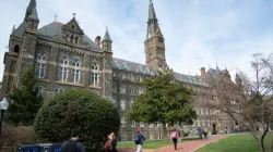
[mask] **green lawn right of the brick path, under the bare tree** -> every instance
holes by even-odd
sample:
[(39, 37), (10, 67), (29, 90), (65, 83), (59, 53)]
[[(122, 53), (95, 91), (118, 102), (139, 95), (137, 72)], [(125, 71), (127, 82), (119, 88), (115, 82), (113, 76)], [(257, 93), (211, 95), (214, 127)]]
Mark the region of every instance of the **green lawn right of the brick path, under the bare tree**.
[[(270, 151), (271, 134), (268, 132), (264, 144)], [(206, 144), (198, 152), (260, 152), (260, 147), (251, 134), (232, 135), (225, 139)]]

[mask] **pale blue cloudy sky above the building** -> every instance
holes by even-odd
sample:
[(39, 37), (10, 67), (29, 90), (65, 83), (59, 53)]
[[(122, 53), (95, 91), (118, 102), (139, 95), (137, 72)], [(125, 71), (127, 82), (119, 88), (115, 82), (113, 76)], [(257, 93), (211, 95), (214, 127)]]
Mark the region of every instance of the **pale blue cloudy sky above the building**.
[[(254, 52), (273, 52), (272, 0), (153, 0), (165, 37), (168, 65), (182, 74), (200, 75), (226, 67), (249, 73)], [(0, 0), (0, 78), (3, 54), (13, 25), (23, 22), (29, 0)], [(114, 56), (145, 63), (149, 0), (37, 0), (39, 27), (68, 23), (72, 13), (84, 33), (95, 39), (106, 26), (112, 39)]]

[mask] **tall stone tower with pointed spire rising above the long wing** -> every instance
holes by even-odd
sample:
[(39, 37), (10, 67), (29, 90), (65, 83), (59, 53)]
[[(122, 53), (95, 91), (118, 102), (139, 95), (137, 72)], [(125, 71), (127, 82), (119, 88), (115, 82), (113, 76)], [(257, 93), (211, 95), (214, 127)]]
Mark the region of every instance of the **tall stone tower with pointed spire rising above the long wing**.
[(144, 41), (146, 65), (154, 68), (168, 68), (165, 58), (164, 37), (157, 23), (152, 0), (149, 5), (147, 34)]

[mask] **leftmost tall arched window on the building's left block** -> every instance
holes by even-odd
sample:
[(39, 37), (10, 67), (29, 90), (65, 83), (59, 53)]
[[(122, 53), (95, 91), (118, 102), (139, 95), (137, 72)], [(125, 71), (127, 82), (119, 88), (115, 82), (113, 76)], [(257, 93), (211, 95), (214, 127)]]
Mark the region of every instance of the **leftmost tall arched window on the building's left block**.
[(37, 55), (37, 63), (35, 67), (35, 76), (38, 78), (45, 77), (45, 68), (46, 68), (46, 54), (38, 53)]

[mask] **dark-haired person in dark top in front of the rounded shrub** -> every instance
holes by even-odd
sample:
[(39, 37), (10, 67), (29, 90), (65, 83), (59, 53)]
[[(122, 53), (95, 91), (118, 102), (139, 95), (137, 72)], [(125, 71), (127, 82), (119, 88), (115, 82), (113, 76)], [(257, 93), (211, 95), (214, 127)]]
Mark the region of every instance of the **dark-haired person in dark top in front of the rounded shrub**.
[(61, 144), (60, 152), (85, 152), (83, 143), (79, 141), (80, 130), (74, 128), (71, 130), (71, 139)]

